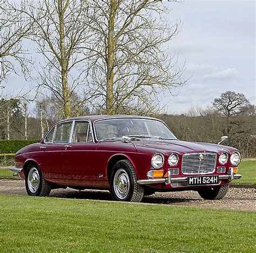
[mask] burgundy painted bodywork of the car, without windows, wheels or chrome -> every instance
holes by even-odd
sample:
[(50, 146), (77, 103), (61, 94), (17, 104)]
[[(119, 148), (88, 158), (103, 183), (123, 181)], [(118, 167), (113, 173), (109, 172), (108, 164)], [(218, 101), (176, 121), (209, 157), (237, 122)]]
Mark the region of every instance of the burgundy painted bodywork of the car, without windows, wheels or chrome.
[[(180, 168), (178, 175), (174, 177), (183, 177), (181, 173), (181, 158), (184, 153), (190, 152), (215, 152), (217, 153), (218, 166), (226, 167), (226, 172), (230, 166), (230, 161), (226, 165), (219, 164), (218, 158), (224, 151), (230, 154), (237, 149), (233, 147), (210, 144), (210, 143), (194, 143), (184, 142), (180, 140), (156, 140), (156, 139), (142, 139), (132, 143), (122, 143), (120, 140), (108, 140), (98, 142), (95, 138), (94, 122), (104, 120), (107, 118), (119, 117), (138, 117), (140, 116), (87, 116), (79, 118), (71, 118), (73, 120), (89, 120), (91, 122), (93, 139), (92, 143), (68, 143), (71, 147), (65, 149), (67, 143), (41, 143), (32, 144), (19, 150), (15, 156), (15, 165), (17, 168), (23, 168), (19, 175), (24, 179), (24, 171), (26, 164), (33, 162), (39, 165), (46, 181), (55, 187), (80, 187), (80, 188), (96, 188), (109, 189), (109, 178), (111, 173), (111, 163), (120, 159), (129, 159), (136, 170), (138, 180), (148, 179), (146, 173), (151, 170), (151, 158), (154, 153), (161, 152), (165, 156), (165, 163), (163, 166), (164, 174), (172, 168), (167, 159), (171, 153), (179, 154), (179, 162), (175, 168)], [(65, 122), (64, 120), (59, 123)], [(54, 126), (53, 126), (54, 127)], [(45, 146), (45, 149), (41, 149)], [(217, 169), (212, 173), (218, 174)], [(194, 174), (193, 174), (194, 175)], [(200, 174), (199, 174), (200, 175)], [(227, 180), (222, 180), (222, 184), (226, 184)], [(166, 184), (148, 185), (152, 188), (175, 190), (175, 189), (189, 189), (193, 187), (172, 187)], [(197, 186), (198, 187), (198, 186)], [(204, 187), (204, 186), (202, 186)]]

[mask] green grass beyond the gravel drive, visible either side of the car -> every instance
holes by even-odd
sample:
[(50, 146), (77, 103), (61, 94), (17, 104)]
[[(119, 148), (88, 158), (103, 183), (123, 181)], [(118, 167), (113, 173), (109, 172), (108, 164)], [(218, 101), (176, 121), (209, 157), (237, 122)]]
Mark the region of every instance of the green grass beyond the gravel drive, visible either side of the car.
[[(242, 178), (234, 180), (233, 184), (256, 184), (256, 160), (241, 161), (238, 173), (242, 174)], [(8, 169), (0, 168), (0, 178), (14, 178), (14, 176)]]

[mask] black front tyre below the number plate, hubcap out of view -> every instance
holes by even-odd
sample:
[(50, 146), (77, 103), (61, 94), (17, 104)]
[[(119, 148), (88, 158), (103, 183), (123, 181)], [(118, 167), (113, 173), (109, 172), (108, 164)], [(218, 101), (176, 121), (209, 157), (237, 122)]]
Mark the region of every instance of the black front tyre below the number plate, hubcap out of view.
[(229, 186), (229, 184), (226, 184), (218, 187), (199, 189), (198, 194), (201, 196), (201, 198), (206, 200), (222, 199), (227, 194)]

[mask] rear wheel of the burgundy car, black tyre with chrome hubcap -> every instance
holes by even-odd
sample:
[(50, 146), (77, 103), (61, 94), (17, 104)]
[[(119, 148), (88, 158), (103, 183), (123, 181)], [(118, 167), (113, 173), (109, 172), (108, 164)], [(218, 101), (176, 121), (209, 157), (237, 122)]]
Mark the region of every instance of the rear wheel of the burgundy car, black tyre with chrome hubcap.
[(25, 173), (26, 193), (29, 196), (49, 196), (51, 186), (45, 181), (38, 165), (30, 164)]

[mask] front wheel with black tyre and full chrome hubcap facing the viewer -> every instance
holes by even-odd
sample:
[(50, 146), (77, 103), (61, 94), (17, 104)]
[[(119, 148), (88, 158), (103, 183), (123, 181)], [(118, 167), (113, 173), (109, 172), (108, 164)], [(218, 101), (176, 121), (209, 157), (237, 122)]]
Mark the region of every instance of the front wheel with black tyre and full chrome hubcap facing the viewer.
[(140, 202), (144, 196), (144, 188), (138, 185), (137, 180), (137, 174), (131, 162), (118, 161), (113, 166), (110, 179), (112, 198), (117, 201)]

